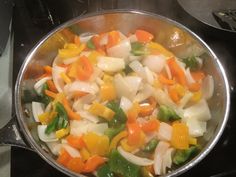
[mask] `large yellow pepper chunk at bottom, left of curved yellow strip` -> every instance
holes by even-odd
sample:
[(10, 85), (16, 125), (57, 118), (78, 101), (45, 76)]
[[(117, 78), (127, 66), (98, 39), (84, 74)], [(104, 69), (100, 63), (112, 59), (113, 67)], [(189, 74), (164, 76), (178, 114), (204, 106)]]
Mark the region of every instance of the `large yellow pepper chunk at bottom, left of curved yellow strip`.
[(109, 138), (106, 135), (98, 135), (88, 132), (83, 136), (83, 140), (92, 155), (104, 156), (109, 150)]

